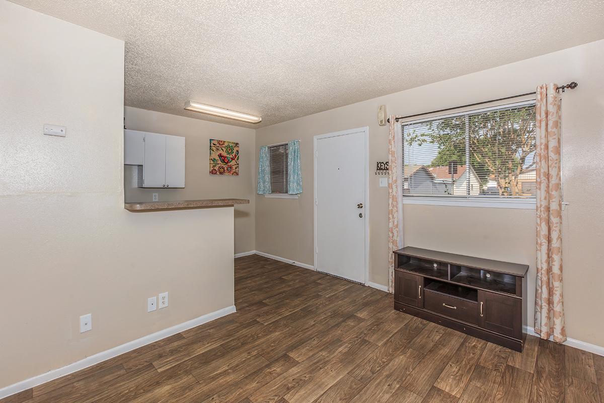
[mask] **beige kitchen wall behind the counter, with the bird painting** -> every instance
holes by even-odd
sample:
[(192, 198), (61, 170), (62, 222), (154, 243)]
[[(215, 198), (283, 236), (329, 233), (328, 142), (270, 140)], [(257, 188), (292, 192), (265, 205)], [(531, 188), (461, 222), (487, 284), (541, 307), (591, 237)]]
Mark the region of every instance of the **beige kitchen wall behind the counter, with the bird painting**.
[[(137, 187), (138, 168), (124, 166), (124, 193), (127, 202), (191, 199), (249, 199), (235, 206), (235, 253), (255, 249), (255, 131), (245, 127), (214, 123), (138, 108), (125, 108), (126, 127), (132, 130), (185, 137), (184, 189), (142, 189)], [(239, 143), (239, 176), (210, 175), (210, 138)]]

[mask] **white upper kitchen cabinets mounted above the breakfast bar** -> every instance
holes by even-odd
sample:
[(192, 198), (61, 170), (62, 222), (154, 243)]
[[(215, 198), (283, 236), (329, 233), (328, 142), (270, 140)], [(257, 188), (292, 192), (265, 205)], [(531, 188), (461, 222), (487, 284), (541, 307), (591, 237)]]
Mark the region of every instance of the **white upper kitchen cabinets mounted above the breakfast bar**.
[(124, 130), (124, 164), (138, 167), (138, 187), (185, 187), (185, 138)]

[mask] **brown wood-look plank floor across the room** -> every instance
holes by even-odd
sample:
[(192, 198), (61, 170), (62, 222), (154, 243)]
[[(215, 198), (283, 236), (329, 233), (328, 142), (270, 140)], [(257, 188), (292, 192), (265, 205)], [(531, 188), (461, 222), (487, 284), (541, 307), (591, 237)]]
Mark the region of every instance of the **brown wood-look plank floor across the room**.
[(0, 400), (604, 403), (604, 357), (529, 337), (517, 353), (394, 311), (390, 294), (260, 256), (237, 313)]

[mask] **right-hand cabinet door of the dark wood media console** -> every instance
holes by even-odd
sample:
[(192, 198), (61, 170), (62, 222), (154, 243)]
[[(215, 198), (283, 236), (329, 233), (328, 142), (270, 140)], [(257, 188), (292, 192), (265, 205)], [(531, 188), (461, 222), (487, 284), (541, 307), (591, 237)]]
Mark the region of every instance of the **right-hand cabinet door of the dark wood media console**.
[(517, 339), (522, 337), (521, 299), (478, 291), (478, 305), (481, 327)]

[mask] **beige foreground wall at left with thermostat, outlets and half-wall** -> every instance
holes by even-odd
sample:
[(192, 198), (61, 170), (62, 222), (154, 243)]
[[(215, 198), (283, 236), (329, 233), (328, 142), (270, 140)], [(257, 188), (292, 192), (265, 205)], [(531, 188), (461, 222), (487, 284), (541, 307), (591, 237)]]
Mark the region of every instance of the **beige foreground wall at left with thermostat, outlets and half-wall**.
[(123, 208), (124, 43), (0, 0), (0, 54), (0, 388), (233, 305), (232, 207)]

